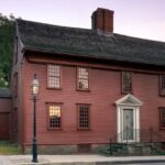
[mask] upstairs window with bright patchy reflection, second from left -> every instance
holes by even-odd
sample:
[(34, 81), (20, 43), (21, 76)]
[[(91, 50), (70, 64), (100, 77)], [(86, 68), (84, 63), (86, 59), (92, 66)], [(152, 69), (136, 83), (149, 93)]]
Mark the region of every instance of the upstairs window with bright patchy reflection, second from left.
[(78, 79), (77, 86), (79, 90), (88, 90), (89, 89), (89, 70), (85, 67), (78, 67)]

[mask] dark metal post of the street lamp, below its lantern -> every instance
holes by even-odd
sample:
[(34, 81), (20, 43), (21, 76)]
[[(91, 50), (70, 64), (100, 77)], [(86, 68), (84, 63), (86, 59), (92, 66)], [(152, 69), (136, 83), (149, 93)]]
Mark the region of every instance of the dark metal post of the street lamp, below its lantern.
[(37, 145), (36, 145), (36, 96), (33, 96), (33, 160), (32, 162), (36, 163), (37, 161)]

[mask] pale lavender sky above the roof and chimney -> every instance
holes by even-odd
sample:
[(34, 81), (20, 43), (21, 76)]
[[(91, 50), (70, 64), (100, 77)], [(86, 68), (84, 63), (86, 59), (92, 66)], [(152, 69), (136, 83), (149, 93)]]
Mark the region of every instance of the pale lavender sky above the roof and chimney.
[(97, 8), (114, 11), (114, 33), (165, 42), (165, 0), (0, 0), (0, 13), (91, 29)]

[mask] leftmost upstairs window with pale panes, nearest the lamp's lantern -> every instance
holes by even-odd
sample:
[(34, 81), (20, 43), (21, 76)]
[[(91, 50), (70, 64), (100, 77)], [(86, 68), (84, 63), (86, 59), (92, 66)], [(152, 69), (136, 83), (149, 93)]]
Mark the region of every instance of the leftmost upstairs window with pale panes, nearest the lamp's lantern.
[(47, 65), (47, 87), (61, 88), (61, 66)]

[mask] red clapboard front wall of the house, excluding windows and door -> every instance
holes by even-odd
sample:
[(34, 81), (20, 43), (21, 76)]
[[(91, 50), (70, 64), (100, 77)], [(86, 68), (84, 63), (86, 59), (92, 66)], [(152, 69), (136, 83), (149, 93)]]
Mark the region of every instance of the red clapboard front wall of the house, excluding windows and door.
[[(38, 58), (41, 61), (41, 58)], [(62, 90), (46, 88), (46, 63), (24, 62), (23, 102), (24, 102), (24, 145), (32, 143), (33, 101), (31, 100), (30, 84), (34, 73), (41, 84), (40, 95), (36, 102), (37, 116), (37, 143), (40, 145), (76, 145), (76, 144), (106, 144), (117, 135), (117, 108), (114, 102), (122, 98), (121, 72), (124, 67), (103, 67), (90, 65), (87, 62), (65, 62), (51, 59), (50, 64), (62, 65)], [(64, 64), (64, 65), (63, 65)], [(90, 91), (76, 90), (77, 66), (88, 66)], [(158, 95), (158, 73), (147, 69), (133, 70), (133, 94), (143, 106), (140, 111), (140, 128), (153, 128), (160, 130), (158, 107), (165, 107), (164, 97)], [(47, 130), (46, 128), (46, 102), (61, 102), (62, 106), (62, 130)], [(90, 130), (77, 130), (77, 103), (90, 103)]]

